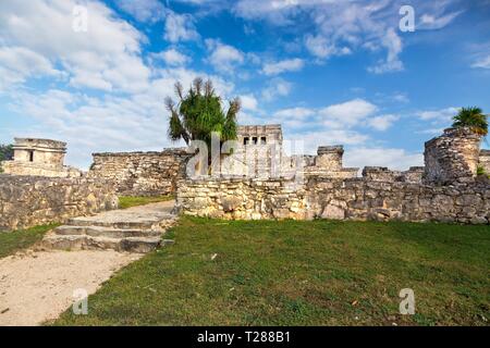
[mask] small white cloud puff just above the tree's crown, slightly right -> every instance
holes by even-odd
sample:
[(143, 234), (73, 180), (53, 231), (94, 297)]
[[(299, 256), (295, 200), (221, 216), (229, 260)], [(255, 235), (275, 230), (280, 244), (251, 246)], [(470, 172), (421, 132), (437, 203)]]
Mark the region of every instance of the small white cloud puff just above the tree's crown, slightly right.
[(210, 52), (208, 61), (219, 72), (232, 73), (236, 65), (245, 61), (242, 51), (233, 46), (224, 45), (220, 40), (207, 39), (206, 46)]

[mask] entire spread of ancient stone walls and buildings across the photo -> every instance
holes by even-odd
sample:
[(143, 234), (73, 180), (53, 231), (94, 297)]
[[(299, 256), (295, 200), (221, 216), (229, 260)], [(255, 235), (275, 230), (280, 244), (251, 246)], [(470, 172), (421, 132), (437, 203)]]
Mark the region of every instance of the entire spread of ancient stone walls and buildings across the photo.
[[(221, 219), (339, 219), (490, 223), (490, 151), (466, 128), (426, 142), (425, 166), (344, 167), (342, 146), (287, 156), (280, 125), (242, 126), (218, 169), (189, 175), (196, 153), (95, 153), (79, 176), (63, 165), (65, 144), (16, 139), (0, 175), (0, 229), (63, 222), (118, 206), (118, 195), (175, 195), (175, 211)], [(230, 150), (230, 149), (228, 149)], [(36, 176), (33, 176), (36, 175)], [(58, 176), (58, 177), (57, 177)], [(76, 178), (66, 178), (77, 176)]]

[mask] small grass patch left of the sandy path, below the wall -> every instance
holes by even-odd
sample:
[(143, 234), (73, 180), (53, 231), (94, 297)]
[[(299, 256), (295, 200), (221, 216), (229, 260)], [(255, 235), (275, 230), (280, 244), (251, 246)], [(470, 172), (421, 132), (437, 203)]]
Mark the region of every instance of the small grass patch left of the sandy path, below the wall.
[(59, 224), (36, 226), (12, 233), (0, 233), (0, 258), (13, 254), (19, 250), (29, 248), (42, 239), (42, 236)]

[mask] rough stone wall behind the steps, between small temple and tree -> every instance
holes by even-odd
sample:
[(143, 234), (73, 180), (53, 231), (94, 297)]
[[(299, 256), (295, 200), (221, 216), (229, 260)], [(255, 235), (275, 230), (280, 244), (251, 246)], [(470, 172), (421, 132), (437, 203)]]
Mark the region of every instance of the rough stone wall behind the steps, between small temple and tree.
[(184, 177), (185, 149), (162, 152), (94, 153), (88, 177), (111, 179), (123, 196), (172, 195)]

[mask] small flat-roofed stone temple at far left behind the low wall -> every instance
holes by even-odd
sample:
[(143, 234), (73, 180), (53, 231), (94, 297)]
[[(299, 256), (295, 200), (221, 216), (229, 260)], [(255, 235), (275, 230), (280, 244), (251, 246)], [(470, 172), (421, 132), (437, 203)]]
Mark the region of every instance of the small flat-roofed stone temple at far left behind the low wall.
[(49, 139), (15, 138), (14, 159), (2, 163), (5, 174), (48, 177), (79, 177), (82, 172), (65, 166), (66, 144)]

